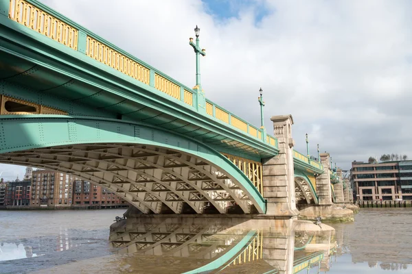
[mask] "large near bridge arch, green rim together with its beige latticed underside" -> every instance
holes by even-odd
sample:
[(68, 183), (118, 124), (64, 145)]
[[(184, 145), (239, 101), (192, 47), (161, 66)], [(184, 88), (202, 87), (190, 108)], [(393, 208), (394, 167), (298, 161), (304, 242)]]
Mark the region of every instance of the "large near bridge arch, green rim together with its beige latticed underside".
[(226, 213), (264, 213), (262, 195), (224, 155), (197, 140), (150, 125), (66, 115), (5, 115), (0, 162), (61, 171), (100, 184), (143, 213), (206, 203)]

